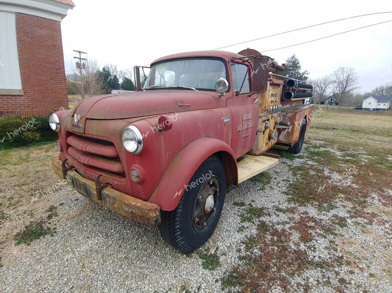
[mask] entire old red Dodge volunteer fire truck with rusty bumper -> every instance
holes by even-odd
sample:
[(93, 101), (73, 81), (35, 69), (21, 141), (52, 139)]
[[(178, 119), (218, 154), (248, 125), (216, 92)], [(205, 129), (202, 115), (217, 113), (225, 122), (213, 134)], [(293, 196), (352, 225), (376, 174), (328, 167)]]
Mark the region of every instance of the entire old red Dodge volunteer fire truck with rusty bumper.
[(282, 69), (252, 49), (159, 58), (143, 89), (92, 96), (50, 116), (59, 136), (54, 172), (192, 252), (214, 232), (227, 184), (276, 165), (271, 148), (301, 150), (312, 87)]

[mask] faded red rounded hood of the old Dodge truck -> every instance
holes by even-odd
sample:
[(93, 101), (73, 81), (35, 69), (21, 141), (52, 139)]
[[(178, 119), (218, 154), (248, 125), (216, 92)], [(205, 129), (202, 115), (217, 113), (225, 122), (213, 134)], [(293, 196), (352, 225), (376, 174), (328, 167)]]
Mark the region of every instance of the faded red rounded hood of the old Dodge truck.
[(72, 116), (126, 119), (211, 108), (217, 108), (217, 101), (213, 94), (206, 91), (146, 90), (84, 99), (76, 105)]

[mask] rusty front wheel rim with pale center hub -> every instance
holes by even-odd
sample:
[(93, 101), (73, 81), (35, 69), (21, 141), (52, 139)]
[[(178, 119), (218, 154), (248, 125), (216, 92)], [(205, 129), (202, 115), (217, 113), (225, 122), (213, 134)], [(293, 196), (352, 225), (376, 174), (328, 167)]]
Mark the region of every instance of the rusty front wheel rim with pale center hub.
[(220, 181), (215, 176), (200, 186), (192, 211), (192, 225), (196, 232), (205, 228), (214, 218), (220, 195)]

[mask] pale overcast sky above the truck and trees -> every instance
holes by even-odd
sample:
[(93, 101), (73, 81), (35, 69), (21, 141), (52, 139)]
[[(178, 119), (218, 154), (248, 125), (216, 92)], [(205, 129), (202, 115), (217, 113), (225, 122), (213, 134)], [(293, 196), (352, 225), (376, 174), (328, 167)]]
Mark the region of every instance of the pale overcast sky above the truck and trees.
[[(392, 11), (391, 1), (123, 1), (73, 0), (62, 21), (67, 73), (75, 68), (74, 49), (88, 52), (100, 66), (146, 65), (158, 57), (209, 50), (335, 19)], [(279, 3), (272, 6), (268, 3)], [(342, 31), (392, 20), (392, 13), (345, 20), (222, 50), (249, 47), (284, 63), (292, 54), (311, 78), (353, 67), (360, 92), (392, 82), (392, 22), (286, 49)]]

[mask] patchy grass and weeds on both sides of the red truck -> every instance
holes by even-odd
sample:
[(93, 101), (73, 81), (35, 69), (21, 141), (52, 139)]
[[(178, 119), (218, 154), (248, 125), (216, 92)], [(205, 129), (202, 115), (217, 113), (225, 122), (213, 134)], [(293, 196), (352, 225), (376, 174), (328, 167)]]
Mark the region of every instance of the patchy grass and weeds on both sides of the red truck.
[[(228, 200), (242, 187), (258, 193), (262, 204), (235, 200), (230, 206), (238, 209), (237, 232), (246, 237), (222, 289), (306, 292), (314, 271), (317, 286), (335, 292), (366, 291), (361, 279), (392, 284), (392, 117), (325, 110), (312, 120), (301, 154), (280, 154), (283, 174), (272, 168), (229, 188)], [(4, 267), (31, 242), (55, 233), (50, 220), (62, 199), (53, 194), (63, 186), (50, 166), (56, 155), (53, 142), (0, 151)], [(213, 273), (226, 262), (218, 249), (197, 255), (201, 266), (194, 270)]]

